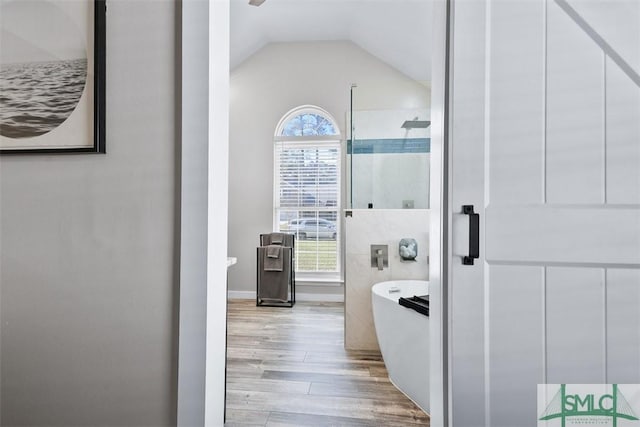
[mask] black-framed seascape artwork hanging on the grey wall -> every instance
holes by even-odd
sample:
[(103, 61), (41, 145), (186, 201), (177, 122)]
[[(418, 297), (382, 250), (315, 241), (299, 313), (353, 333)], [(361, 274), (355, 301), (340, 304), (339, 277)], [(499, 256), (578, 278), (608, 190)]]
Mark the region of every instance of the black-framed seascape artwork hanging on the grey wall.
[(105, 152), (105, 0), (0, 0), (0, 154)]

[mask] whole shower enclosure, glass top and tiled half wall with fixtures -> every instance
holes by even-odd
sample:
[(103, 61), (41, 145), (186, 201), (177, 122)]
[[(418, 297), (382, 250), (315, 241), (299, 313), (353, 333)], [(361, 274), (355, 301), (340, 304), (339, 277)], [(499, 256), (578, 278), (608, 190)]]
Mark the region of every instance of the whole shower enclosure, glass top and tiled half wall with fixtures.
[[(373, 284), (429, 277), (430, 91), (398, 73), (357, 82), (350, 95), (342, 221), (345, 347), (378, 350)], [(402, 256), (402, 241), (414, 242), (415, 256)], [(371, 257), (380, 246), (388, 249), (382, 266)]]

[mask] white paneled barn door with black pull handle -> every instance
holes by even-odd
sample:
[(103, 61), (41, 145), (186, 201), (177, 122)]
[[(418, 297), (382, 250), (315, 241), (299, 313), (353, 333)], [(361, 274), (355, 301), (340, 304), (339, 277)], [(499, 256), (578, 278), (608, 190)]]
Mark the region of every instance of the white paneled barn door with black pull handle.
[(537, 384), (640, 383), (640, 1), (451, 12), (450, 422), (535, 426)]

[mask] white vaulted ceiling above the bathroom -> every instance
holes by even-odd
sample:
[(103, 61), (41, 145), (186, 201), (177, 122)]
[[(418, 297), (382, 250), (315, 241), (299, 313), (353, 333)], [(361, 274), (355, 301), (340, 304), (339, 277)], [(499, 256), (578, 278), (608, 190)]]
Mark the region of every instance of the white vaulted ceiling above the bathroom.
[(231, 69), (272, 42), (350, 40), (431, 80), (431, 0), (231, 0)]

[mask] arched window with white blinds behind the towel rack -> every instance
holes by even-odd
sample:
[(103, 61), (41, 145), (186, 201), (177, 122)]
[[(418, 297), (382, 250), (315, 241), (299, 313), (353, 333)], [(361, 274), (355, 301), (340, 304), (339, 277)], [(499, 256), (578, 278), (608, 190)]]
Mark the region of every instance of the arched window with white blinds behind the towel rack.
[(299, 279), (340, 277), (340, 132), (321, 108), (289, 111), (274, 135), (274, 230), (294, 233)]

